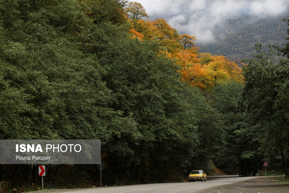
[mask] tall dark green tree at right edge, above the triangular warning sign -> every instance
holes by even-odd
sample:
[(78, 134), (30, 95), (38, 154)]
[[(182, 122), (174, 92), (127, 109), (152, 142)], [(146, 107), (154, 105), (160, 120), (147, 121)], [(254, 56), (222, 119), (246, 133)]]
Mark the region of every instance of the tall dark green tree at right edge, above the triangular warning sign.
[[(273, 50), (262, 52), (261, 44), (256, 44), (258, 54), (247, 60), (244, 70), (246, 84), (242, 91), (242, 103), (246, 122), (262, 151), (288, 168), (288, 58), (276, 61)], [(285, 169), (288, 178), (288, 169)]]

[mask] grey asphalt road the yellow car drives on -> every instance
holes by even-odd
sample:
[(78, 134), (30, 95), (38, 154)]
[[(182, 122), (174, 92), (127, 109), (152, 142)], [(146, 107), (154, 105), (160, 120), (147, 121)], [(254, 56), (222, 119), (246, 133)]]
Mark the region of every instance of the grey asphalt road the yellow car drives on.
[(184, 183), (157, 183), (157, 184), (139, 184), (126, 186), (110, 186), (102, 188), (81, 188), (70, 190), (50, 190), (49, 193), (139, 193), (139, 192), (204, 192), (211, 188), (223, 185), (238, 184), (252, 180), (258, 177), (239, 177), (239, 176), (217, 176), (208, 177), (208, 181), (184, 182)]

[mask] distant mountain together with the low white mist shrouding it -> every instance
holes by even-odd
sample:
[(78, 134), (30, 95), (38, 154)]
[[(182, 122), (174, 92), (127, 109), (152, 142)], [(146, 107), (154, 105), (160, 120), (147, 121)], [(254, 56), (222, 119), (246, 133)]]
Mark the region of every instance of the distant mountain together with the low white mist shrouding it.
[[(285, 43), (288, 26), (281, 19), (288, 17), (288, 2), (283, 3), (284, 9), (279, 13), (274, 10), (253, 12), (249, 3), (232, 9), (224, 5), (227, 7), (222, 12), (220, 7), (223, 1), (206, 1), (206, 5), (209, 5), (208, 2), (211, 2), (208, 9), (195, 11), (182, 3), (179, 5), (179, 12), (155, 13), (150, 15), (150, 20), (164, 18), (180, 34), (196, 36), (195, 44), (201, 49), (200, 52), (223, 55), (232, 60), (249, 58), (255, 50), (256, 41), (262, 43), (265, 50), (268, 49), (268, 44)], [(219, 8), (214, 9), (214, 5), (218, 5)]]

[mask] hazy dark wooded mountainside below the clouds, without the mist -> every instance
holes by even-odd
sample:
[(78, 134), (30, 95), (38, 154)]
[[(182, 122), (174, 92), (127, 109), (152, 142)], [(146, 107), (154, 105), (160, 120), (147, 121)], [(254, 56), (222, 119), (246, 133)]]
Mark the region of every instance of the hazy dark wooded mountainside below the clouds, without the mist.
[(262, 43), (264, 49), (268, 44), (281, 45), (285, 42), (288, 26), (281, 19), (286, 17), (288, 14), (255, 19), (242, 13), (233, 19), (226, 19), (225, 26), (216, 27), (215, 43), (196, 42), (196, 44), (201, 48), (201, 52), (223, 55), (233, 60), (249, 58), (250, 53), (254, 52), (256, 41)]

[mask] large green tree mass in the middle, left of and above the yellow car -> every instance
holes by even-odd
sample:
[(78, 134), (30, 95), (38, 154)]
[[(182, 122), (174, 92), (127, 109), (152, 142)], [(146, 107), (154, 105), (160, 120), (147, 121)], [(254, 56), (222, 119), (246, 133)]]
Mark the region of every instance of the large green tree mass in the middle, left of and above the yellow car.
[[(130, 136), (114, 136), (107, 142), (109, 152), (119, 151), (120, 142), (131, 148), (130, 154), (124, 156), (121, 152), (112, 160), (115, 167), (110, 168), (111, 172), (122, 173), (118, 163), (123, 161), (133, 168), (132, 176), (138, 173), (140, 179), (150, 175), (160, 180), (170, 174), (172, 166), (186, 168), (203, 163), (206, 167), (205, 161), (222, 144), (223, 133), (217, 120), (217, 127), (210, 124), (215, 114), (203, 96), (180, 82), (173, 61), (155, 52), (160, 49), (157, 41), (128, 40), (122, 32), (117, 36), (125, 38), (116, 38), (117, 29), (110, 25), (101, 31), (111, 42), (101, 41), (91, 52), (99, 53), (98, 63), (108, 71), (103, 80), (116, 98), (110, 107), (132, 117), (137, 127)], [(210, 129), (218, 138), (205, 137)], [(198, 156), (204, 162), (194, 160)]]

